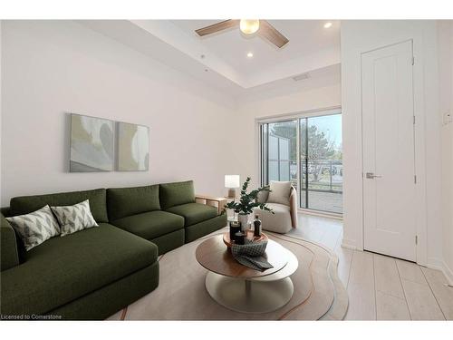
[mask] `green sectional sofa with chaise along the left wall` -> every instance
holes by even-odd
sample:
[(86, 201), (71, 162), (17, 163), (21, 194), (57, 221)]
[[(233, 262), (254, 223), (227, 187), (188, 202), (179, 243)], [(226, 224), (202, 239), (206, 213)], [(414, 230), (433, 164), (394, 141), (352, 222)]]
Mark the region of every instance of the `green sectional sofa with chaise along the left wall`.
[[(99, 228), (30, 251), (5, 219), (85, 199)], [(192, 181), (17, 197), (1, 212), (3, 319), (104, 319), (158, 287), (160, 254), (226, 226)]]

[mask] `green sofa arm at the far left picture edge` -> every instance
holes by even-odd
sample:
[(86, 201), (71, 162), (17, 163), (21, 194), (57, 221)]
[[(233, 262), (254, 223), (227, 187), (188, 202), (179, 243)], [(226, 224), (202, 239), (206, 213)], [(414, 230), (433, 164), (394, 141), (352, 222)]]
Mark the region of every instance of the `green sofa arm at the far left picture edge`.
[(0, 262), (1, 270), (4, 271), (19, 265), (19, 253), (13, 227), (3, 214), (0, 214), (0, 219)]

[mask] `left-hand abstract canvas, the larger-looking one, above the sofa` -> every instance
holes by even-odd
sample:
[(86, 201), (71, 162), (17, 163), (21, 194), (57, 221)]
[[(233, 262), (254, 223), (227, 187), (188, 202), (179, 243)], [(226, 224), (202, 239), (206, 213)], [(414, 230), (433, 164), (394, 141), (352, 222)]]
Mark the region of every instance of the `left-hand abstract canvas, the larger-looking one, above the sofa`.
[(71, 114), (71, 172), (113, 170), (113, 121)]

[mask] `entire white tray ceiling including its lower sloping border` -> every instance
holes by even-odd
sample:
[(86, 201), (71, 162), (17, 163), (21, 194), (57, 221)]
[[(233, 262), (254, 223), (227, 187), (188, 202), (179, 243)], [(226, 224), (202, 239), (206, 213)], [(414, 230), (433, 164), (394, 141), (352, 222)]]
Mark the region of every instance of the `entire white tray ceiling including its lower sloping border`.
[[(290, 85), (301, 73), (327, 70), (337, 77), (340, 64), (340, 22), (269, 20), (288, 39), (279, 49), (238, 28), (199, 37), (194, 30), (220, 20), (91, 20), (80, 24), (110, 36), (224, 92), (247, 92)], [(254, 53), (247, 58), (246, 53)], [(203, 57), (202, 57), (203, 55)], [(289, 80), (289, 81), (288, 81)], [(310, 82), (309, 80), (303, 82)], [(297, 82), (301, 83), (301, 82)], [(299, 85), (297, 85), (299, 86)]]

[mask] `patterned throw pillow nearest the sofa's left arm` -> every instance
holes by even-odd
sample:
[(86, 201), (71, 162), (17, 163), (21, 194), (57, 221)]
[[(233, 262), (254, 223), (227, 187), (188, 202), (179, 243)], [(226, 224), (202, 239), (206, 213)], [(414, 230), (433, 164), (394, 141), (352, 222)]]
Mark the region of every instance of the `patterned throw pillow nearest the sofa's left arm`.
[(49, 206), (6, 219), (22, 238), (27, 251), (60, 234), (60, 226)]

